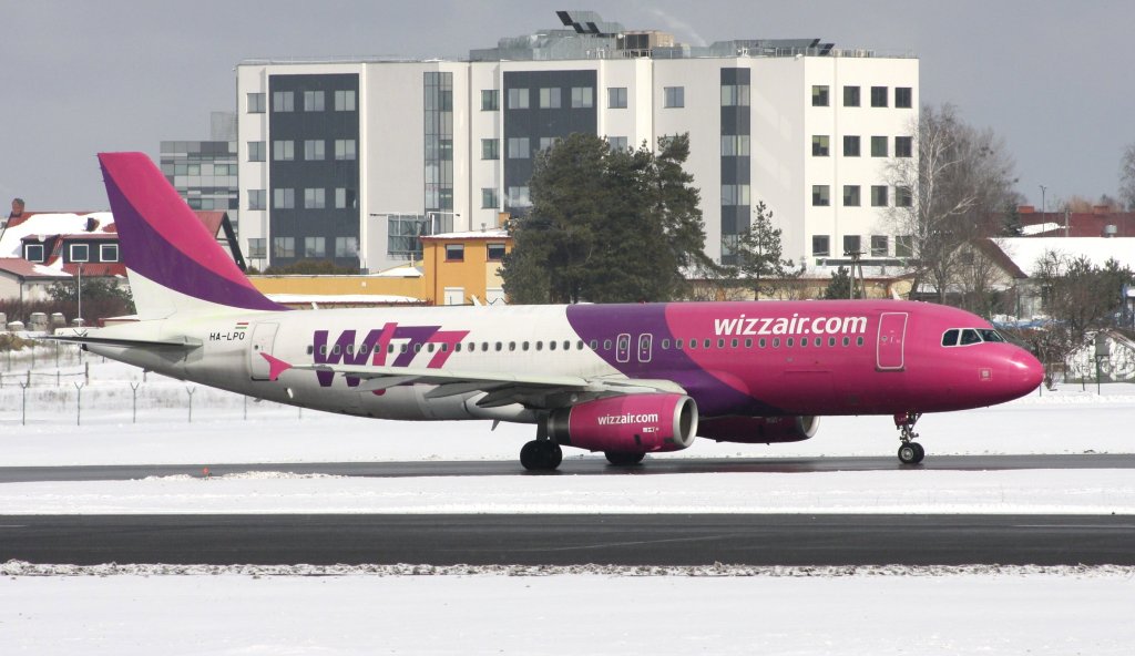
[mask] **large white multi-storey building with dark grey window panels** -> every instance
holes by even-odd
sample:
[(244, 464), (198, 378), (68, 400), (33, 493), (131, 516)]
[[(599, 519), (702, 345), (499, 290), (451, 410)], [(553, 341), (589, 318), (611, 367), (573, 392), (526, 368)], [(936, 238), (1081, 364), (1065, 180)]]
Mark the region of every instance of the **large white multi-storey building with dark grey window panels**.
[(689, 133), (686, 168), (715, 260), (730, 261), (758, 202), (788, 258), (906, 254), (886, 209), (910, 196), (886, 169), (917, 157), (917, 59), (815, 41), (699, 53), (617, 48), (624, 34), (540, 36), (574, 44), (571, 58), (552, 48), (504, 57), (514, 51), (502, 41), (470, 61), (241, 64), (249, 263), (377, 271), (418, 256), (419, 234), (495, 227), (499, 212), (526, 211), (535, 155), (574, 132), (617, 148)]

